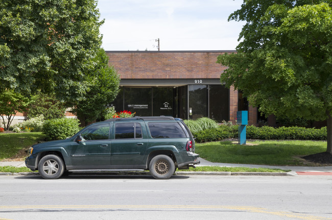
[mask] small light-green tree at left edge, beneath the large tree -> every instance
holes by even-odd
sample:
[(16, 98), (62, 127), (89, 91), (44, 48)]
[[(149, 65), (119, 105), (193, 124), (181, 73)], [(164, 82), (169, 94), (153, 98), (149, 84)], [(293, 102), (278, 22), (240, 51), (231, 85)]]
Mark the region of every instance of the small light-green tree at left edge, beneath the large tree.
[(27, 110), (29, 102), (29, 98), (10, 90), (0, 93), (0, 117), (5, 130), (9, 130), (16, 113), (22, 113)]

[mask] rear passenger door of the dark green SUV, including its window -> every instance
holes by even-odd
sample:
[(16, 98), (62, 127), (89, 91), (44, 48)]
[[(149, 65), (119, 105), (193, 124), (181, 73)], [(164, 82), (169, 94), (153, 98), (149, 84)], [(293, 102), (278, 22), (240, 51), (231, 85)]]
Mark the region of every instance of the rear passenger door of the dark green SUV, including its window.
[(111, 140), (111, 164), (118, 168), (144, 165), (148, 145), (146, 127), (141, 122), (114, 122)]

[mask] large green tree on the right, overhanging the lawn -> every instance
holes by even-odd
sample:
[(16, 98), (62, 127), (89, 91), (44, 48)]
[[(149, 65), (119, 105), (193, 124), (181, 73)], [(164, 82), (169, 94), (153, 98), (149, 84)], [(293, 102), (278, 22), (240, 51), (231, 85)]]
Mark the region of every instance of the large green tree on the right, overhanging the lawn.
[(237, 53), (223, 54), (221, 81), (276, 117), (327, 120), (332, 154), (332, 1), (245, 0)]

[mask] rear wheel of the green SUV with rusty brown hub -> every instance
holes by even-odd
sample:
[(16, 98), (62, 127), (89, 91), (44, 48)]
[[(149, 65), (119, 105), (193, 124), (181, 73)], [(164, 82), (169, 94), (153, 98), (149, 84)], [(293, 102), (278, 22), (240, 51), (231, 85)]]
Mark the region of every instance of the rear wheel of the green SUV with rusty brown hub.
[(155, 179), (169, 179), (175, 172), (175, 164), (169, 156), (161, 154), (152, 158), (149, 170)]

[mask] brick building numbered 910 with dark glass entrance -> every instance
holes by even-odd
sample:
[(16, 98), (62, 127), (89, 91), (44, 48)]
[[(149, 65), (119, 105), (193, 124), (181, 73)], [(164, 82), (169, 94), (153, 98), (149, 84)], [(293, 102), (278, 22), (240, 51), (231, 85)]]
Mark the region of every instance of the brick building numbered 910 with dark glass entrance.
[(235, 121), (237, 111), (248, 110), (249, 124), (256, 125), (257, 109), (220, 82), (227, 67), (217, 64), (217, 57), (231, 52), (236, 51), (106, 51), (121, 77), (116, 111), (221, 122)]

